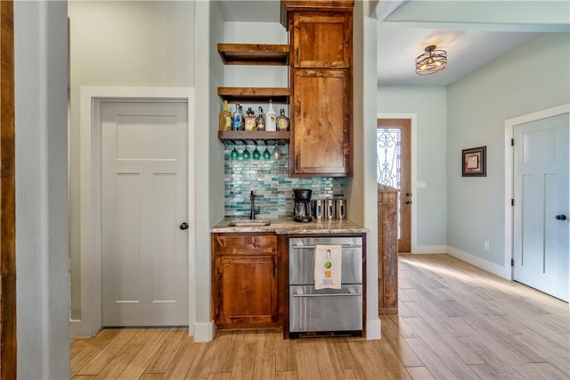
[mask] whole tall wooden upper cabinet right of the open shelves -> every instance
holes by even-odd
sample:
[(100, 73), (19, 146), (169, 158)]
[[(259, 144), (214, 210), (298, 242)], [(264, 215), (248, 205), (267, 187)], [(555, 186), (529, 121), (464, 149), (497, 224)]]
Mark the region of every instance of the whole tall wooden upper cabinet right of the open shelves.
[(354, 0), (282, 0), (289, 30), (289, 176), (353, 172)]

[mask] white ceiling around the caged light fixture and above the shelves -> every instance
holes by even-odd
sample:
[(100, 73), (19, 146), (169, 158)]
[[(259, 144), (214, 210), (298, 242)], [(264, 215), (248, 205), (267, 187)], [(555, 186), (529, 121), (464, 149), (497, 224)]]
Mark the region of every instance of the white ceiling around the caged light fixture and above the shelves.
[[(220, 1), (226, 21), (279, 22), (280, 0)], [(378, 21), (379, 86), (447, 86), (539, 33), (570, 32), (567, 0), (371, 1)], [(414, 59), (427, 45), (448, 65), (417, 75)]]

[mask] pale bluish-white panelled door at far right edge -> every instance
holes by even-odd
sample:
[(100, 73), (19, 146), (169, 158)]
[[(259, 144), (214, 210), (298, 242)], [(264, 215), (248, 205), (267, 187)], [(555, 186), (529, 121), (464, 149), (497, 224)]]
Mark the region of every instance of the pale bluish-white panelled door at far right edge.
[(514, 279), (568, 301), (568, 113), (514, 127)]

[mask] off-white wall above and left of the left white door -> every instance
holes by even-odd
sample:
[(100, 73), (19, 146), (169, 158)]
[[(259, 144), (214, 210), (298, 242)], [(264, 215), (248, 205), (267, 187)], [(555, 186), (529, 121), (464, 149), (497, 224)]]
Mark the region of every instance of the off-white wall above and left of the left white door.
[[(69, 216), (71, 318), (80, 319), (79, 89), (193, 87), (194, 2), (71, 1)], [(202, 168), (208, 171), (208, 168)]]

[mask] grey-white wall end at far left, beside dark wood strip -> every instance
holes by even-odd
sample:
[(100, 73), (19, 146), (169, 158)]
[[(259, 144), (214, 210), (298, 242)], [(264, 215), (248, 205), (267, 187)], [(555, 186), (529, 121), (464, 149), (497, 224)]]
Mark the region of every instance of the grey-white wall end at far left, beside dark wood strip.
[(18, 378), (69, 378), (65, 2), (14, 2)]

